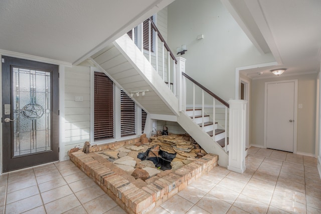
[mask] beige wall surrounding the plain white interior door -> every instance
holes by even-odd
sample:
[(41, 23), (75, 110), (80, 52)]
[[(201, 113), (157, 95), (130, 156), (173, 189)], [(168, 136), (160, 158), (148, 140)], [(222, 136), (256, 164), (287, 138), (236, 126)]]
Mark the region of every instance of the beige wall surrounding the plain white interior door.
[[(279, 76), (277, 78), (252, 81), (251, 105), (251, 143), (264, 144), (264, 94), (265, 82), (279, 80), (298, 80), (297, 109), (297, 152), (314, 154), (315, 147), (315, 96), (317, 74)], [(314, 156), (314, 155), (313, 155)]]

